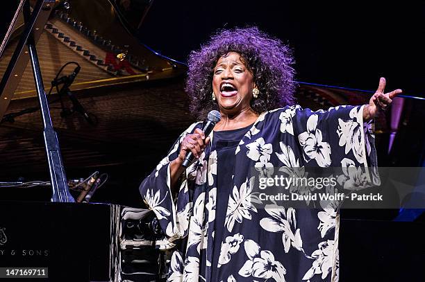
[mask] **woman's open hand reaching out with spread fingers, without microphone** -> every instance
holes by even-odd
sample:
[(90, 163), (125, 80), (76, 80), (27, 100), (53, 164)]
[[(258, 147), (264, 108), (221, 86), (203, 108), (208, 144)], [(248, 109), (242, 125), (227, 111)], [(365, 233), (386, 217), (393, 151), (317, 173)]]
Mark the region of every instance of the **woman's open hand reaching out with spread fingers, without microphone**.
[(363, 107), (363, 121), (369, 121), (375, 118), (379, 110), (385, 111), (392, 103), (392, 98), (402, 92), (401, 89), (397, 89), (384, 94), (385, 83), (385, 78), (379, 80), (378, 89), (374, 96), (370, 98), (369, 105)]

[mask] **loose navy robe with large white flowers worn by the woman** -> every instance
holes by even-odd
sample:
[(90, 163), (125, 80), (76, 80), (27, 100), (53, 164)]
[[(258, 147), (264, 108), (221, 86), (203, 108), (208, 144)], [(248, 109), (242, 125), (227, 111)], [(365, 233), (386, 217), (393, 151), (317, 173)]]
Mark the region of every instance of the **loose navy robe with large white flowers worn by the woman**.
[[(273, 177), (278, 168), (310, 166), (375, 170), (374, 136), (370, 123), (363, 123), (363, 106), (313, 112), (294, 105), (265, 112), (244, 129), (232, 161), (217, 158), (212, 132), (210, 146), (172, 195), (169, 162), (186, 134), (201, 126), (194, 123), (183, 132), (140, 185), (165, 234), (158, 247), (173, 248), (176, 240), (185, 240), (183, 252), (173, 253), (168, 281), (338, 281), (338, 209), (278, 204), (258, 209), (253, 174)], [(231, 172), (226, 211), (216, 211), (222, 188), (217, 170)], [(345, 171), (338, 181), (356, 184), (356, 174)], [(224, 220), (216, 222), (216, 215)]]

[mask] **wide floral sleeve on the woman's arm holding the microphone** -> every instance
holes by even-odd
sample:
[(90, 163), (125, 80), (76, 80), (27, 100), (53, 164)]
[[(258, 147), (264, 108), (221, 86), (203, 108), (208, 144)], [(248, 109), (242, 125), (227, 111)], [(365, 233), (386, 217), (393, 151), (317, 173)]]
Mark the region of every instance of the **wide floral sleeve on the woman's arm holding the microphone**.
[(140, 184), (140, 195), (160, 222), (165, 238), (158, 240), (156, 245), (160, 249), (173, 247), (173, 241), (183, 238), (188, 233), (188, 217), (190, 211), (190, 202), (187, 189), (185, 189), (185, 174), (183, 173), (179, 191), (176, 197), (173, 197), (170, 187), (170, 168), (171, 161), (178, 157), (181, 142), (187, 134), (192, 133), (200, 123), (193, 123), (183, 132), (174, 142), (168, 155), (160, 161), (152, 173), (146, 177)]

